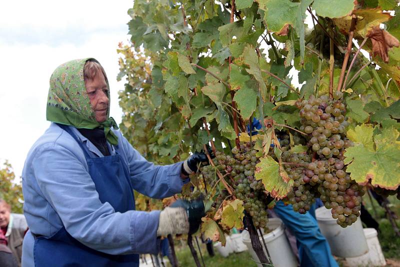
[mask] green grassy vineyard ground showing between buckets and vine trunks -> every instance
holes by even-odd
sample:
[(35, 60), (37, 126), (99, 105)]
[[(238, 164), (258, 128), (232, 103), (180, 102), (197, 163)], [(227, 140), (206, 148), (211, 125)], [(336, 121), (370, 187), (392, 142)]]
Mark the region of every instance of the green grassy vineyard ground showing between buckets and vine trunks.
[[(389, 220), (385, 217), (384, 209), (373, 200), (373, 206), (368, 197), (363, 198), (365, 207), (374, 216), (373, 206), (376, 208), (377, 221), (379, 222), (380, 233), (378, 235), (380, 245), (382, 247), (383, 254), (387, 260), (387, 266), (400, 267), (400, 238), (397, 238), (394, 234), (394, 230), (391, 227)], [(400, 217), (400, 201), (395, 196), (389, 196), (390, 208), (397, 216)], [(400, 225), (400, 219), (397, 219), (397, 225)], [(215, 256), (210, 257), (207, 253), (204, 244), (200, 244), (201, 253), (204, 258), (205, 266), (216, 267), (216, 266), (229, 266), (229, 267), (255, 267), (255, 262), (251, 259), (250, 254), (247, 251), (241, 253), (233, 253), (228, 257), (222, 257), (215, 251)], [(178, 248), (176, 251), (179, 264), (181, 266), (195, 266), (193, 258), (188, 248)], [(341, 259), (338, 259), (341, 267), (346, 267), (346, 264)], [(169, 263), (168, 263), (168, 266)]]

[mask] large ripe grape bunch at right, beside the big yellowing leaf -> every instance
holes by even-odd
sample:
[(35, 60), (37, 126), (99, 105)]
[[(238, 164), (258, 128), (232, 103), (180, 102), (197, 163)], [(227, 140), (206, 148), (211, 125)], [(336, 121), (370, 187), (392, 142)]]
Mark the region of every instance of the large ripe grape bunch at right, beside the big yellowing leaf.
[(311, 95), (295, 103), (300, 109), (299, 129), (308, 134), (306, 145), (312, 159), (304, 160), (302, 156), (300, 160), (297, 154), (290, 154), (285, 162), (297, 165), (285, 167), (294, 181), (287, 196), (295, 211), (305, 213), (314, 198), (320, 197), (325, 207), (331, 208), (337, 223), (346, 227), (359, 216), (364, 190), (345, 171), (344, 149), (353, 143), (345, 137), (348, 123), (341, 97), (342, 93), (336, 91), (334, 99)]

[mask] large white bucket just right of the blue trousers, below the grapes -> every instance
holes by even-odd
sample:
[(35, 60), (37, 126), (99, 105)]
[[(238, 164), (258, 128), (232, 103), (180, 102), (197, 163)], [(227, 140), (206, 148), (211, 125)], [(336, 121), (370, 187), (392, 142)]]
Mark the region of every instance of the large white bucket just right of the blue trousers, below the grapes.
[(330, 209), (324, 206), (315, 209), (319, 228), (328, 240), (332, 254), (338, 257), (355, 257), (368, 252), (360, 218), (351, 226), (342, 228), (331, 214)]

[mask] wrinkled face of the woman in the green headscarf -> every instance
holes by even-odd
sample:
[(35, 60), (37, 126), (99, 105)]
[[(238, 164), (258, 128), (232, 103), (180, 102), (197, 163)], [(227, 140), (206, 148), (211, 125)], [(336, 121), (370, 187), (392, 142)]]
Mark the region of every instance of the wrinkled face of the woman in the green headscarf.
[(84, 85), (97, 122), (103, 122), (107, 119), (109, 103), (108, 87), (103, 73), (98, 71), (93, 79), (85, 79)]

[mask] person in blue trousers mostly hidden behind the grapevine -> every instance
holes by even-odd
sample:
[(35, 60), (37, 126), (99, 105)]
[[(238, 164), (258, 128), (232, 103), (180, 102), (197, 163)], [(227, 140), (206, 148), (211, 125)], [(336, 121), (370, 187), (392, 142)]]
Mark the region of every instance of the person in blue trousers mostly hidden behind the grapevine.
[[(254, 128), (261, 128), (259, 120), (254, 118), (251, 127), (251, 134), (257, 134), (257, 130)], [(250, 131), (248, 126), (247, 131)], [(327, 240), (319, 230), (318, 222), (315, 219), (315, 203), (307, 213), (300, 214), (293, 210), (291, 204), (285, 205), (282, 200), (279, 200), (276, 201), (273, 211), (296, 237), (301, 267), (338, 266)]]

